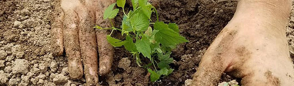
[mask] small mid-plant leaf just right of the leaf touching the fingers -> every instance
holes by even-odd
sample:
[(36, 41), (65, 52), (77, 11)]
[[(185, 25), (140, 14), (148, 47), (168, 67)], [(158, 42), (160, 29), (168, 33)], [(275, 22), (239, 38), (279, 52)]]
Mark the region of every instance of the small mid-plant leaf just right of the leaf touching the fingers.
[(123, 45), (126, 50), (130, 51), (130, 52), (136, 52), (136, 46), (135, 43), (133, 43), (133, 39), (130, 36), (126, 37), (126, 43)]

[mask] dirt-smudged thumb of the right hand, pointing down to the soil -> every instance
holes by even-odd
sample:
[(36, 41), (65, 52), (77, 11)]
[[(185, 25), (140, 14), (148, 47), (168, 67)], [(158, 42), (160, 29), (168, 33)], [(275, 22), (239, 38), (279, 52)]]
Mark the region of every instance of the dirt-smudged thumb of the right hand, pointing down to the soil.
[(209, 46), (201, 58), (199, 68), (193, 76), (192, 86), (215, 86), (223, 72), (231, 62), (229, 46), (226, 44), (233, 40), (235, 31), (227, 31), (226, 28)]

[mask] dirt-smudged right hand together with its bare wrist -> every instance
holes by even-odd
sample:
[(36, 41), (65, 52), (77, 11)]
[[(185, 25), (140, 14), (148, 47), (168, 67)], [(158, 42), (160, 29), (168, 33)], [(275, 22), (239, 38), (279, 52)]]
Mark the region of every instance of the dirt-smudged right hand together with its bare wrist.
[(290, 0), (240, 0), (201, 59), (192, 86), (216, 86), (223, 72), (242, 78), (242, 86), (293, 86), (285, 34), (290, 6)]

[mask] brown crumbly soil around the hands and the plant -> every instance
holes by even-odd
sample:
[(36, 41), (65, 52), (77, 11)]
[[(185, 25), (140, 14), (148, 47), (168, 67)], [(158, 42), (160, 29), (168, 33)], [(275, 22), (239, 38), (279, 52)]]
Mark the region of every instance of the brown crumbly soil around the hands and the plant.
[[(85, 80), (69, 78), (67, 58), (50, 52), (53, 0), (0, 0), (0, 86), (79, 86)], [(99, 76), (103, 86), (185, 86), (213, 39), (230, 21), (235, 0), (152, 0), (159, 20), (177, 23), (190, 42), (173, 50), (174, 72), (157, 82), (149, 81), (146, 69), (138, 67), (131, 53), (115, 48), (111, 72)], [(294, 5), (292, 5), (294, 6)], [(125, 10), (132, 9), (126, 4)], [(122, 11), (115, 18), (121, 25)], [(153, 18), (155, 16), (153, 15)], [(154, 19), (153, 19), (154, 20)], [(294, 9), (286, 34), (294, 57)], [(116, 32), (117, 33), (117, 32)], [(123, 38), (118, 36), (117, 38)], [(143, 59), (144, 60), (144, 59)], [(223, 75), (220, 82), (236, 79)], [(186, 84), (188, 83), (188, 80)], [(237, 79), (240, 81), (240, 79)]]

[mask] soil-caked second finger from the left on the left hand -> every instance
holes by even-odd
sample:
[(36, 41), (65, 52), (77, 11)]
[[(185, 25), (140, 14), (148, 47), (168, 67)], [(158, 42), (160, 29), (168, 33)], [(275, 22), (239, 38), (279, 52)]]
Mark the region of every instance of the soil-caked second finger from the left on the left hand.
[(79, 79), (83, 76), (83, 65), (78, 39), (78, 15), (74, 12), (77, 0), (62, 0), (64, 10), (64, 46), (68, 57), (69, 76)]

